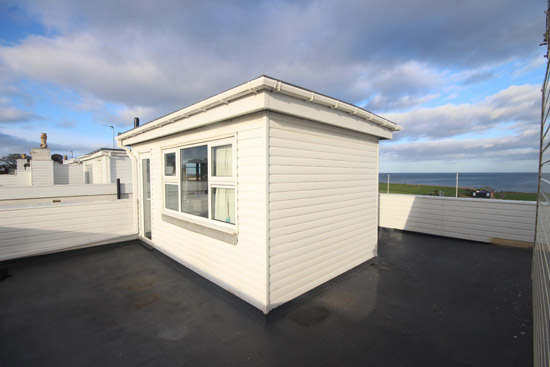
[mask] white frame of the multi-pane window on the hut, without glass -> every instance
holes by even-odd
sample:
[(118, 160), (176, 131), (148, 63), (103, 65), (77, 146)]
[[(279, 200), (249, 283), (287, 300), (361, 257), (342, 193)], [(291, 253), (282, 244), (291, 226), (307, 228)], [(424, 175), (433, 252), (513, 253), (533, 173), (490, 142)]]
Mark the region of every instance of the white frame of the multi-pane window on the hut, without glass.
[[(213, 176), (213, 159), (212, 148), (224, 145), (231, 145), (232, 150), (232, 170), (231, 176)], [(193, 148), (198, 146), (207, 147), (207, 162), (208, 162), (208, 218), (200, 217), (181, 211), (181, 150), (187, 148)], [(166, 154), (176, 154), (176, 174), (174, 176), (165, 175)], [(219, 138), (215, 140), (207, 140), (201, 142), (194, 142), (192, 144), (180, 145), (177, 147), (170, 147), (161, 150), (162, 154), (162, 208), (163, 213), (176, 218), (184, 219), (190, 222), (205, 224), (209, 227), (223, 227), (236, 231), (238, 226), (238, 214), (237, 214), (237, 149), (235, 136), (227, 138)], [(177, 185), (178, 187), (178, 210), (166, 208), (166, 184)], [(235, 192), (235, 224), (226, 223), (219, 220), (212, 219), (212, 189), (213, 188), (229, 188)]]

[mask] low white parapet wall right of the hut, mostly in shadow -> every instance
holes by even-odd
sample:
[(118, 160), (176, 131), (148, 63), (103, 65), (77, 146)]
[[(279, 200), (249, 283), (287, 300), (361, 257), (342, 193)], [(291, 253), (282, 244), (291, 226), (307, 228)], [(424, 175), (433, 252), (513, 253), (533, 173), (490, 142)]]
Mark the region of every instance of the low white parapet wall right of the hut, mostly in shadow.
[(380, 194), (379, 226), (501, 245), (528, 247), (536, 203)]

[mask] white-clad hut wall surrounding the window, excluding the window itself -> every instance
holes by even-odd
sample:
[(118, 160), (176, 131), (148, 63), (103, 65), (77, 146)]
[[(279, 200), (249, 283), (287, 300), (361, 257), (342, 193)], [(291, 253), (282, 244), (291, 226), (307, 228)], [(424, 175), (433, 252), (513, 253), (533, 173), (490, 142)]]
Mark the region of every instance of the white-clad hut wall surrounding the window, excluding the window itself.
[[(162, 149), (236, 136), (236, 245), (198, 234), (162, 219)], [(151, 153), (152, 242), (156, 249), (214, 283), (266, 310), (266, 118), (241, 117), (174, 134), (133, 147)]]

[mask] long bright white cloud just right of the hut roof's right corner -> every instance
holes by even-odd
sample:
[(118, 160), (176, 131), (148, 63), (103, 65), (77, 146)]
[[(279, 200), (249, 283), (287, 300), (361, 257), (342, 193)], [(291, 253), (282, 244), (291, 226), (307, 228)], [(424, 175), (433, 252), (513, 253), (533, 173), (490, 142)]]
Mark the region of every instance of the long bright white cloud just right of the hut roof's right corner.
[(403, 130), (396, 139), (445, 138), (484, 132), (500, 124), (516, 128), (538, 127), (540, 87), (526, 84), (511, 86), (474, 104), (446, 104), (385, 115)]

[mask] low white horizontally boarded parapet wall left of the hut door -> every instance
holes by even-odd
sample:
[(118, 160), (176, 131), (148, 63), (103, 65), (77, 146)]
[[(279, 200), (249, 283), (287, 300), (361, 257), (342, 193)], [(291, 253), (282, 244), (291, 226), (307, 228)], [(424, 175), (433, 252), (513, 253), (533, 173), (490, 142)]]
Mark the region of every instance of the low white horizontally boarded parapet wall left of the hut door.
[(0, 261), (135, 235), (131, 200), (0, 209)]

